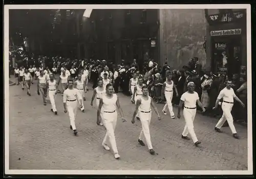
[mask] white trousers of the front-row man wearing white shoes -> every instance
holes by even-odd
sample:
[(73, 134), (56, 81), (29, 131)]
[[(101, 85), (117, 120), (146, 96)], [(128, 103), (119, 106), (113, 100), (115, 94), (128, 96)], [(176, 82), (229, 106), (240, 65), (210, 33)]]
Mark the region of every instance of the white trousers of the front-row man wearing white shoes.
[(117, 112), (114, 113), (104, 113), (102, 112), (102, 120), (104, 126), (106, 127), (106, 134), (103, 139), (103, 143), (111, 144), (112, 150), (115, 153), (118, 153), (117, 146), (116, 146), (116, 137), (115, 137), (115, 129), (116, 129), (116, 122), (117, 122)]

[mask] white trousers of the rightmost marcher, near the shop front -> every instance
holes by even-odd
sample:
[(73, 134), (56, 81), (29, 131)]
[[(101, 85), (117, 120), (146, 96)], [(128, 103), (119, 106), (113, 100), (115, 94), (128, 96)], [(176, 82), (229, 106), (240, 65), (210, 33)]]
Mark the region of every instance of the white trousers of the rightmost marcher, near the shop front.
[(230, 127), (232, 134), (236, 134), (237, 131), (236, 131), (236, 128), (234, 127), (233, 116), (231, 114), (232, 107), (233, 107), (233, 104), (229, 104), (229, 103), (225, 103), (225, 102), (222, 103), (221, 108), (222, 108), (223, 114), (222, 114), (219, 122), (216, 124), (216, 127), (221, 129), (222, 125), (227, 120), (227, 123)]

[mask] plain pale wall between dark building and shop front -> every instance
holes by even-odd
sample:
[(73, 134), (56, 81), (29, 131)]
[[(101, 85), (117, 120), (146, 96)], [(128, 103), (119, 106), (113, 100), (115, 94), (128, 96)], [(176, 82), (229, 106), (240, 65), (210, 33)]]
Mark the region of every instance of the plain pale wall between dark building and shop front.
[(170, 67), (181, 69), (191, 57), (198, 57), (206, 67), (203, 43), (207, 22), (203, 9), (161, 9), (159, 21), (161, 65), (167, 58)]

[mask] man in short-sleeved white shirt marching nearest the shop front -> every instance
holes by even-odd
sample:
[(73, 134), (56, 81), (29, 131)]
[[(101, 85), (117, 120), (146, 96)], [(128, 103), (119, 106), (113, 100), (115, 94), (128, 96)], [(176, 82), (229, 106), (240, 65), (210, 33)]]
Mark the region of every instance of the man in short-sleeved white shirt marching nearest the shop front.
[(223, 111), (223, 115), (220, 118), (219, 122), (216, 124), (215, 131), (219, 132), (219, 133), (222, 133), (221, 127), (225, 123), (225, 121), (227, 120), (228, 125), (230, 127), (230, 130), (233, 134), (233, 137), (236, 138), (236, 139), (239, 139), (239, 136), (237, 135), (236, 128), (234, 127), (234, 124), (233, 124), (233, 116), (231, 114), (231, 110), (232, 110), (232, 107), (233, 107), (234, 99), (236, 101), (238, 101), (243, 108), (245, 107), (245, 105), (236, 96), (236, 94), (234, 94), (234, 90), (231, 88), (231, 85), (232, 85), (231, 80), (230, 81), (228, 80), (227, 83), (226, 83), (226, 87), (223, 90), (221, 90), (219, 96), (217, 97), (215, 107), (212, 108), (212, 109), (217, 109), (218, 105), (219, 105), (219, 102), (220, 102), (220, 99), (223, 98), (223, 102), (220, 104), (221, 108), (222, 108), (222, 111)]

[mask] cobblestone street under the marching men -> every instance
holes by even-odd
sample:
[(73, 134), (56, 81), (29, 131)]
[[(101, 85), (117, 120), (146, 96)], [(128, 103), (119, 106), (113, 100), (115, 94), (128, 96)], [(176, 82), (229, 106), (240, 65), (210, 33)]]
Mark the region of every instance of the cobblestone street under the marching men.
[[(14, 82), (14, 81), (13, 81)], [(127, 122), (117, 122), (115, 131), (120, 160), (101, 146), (105, 129), (96, 124), (96, 108), (90, 106), (92, 88), (86, 93), (85, 113), (78, 111), (78, 135), (70, 130), (68, 114), (63, 112), (62, 96), (55, 98), (58, 115), (51, 111), (48, 98), (43, 106), (36, 84), (31, 96), (19, 86), (10, 86), (10, 169), (45, 170), (247, 170), (247, 129), (235, 124), (241, 139), (232, 137), (229, 127), (223, 133), (214, 130), (217, 120), (197, 114), (195, 132), (202, 144), (181, 139), (185, 122), (163, 115), (163, 105), (157, 105), (162, 120), (153, 112), (152, 144), (156, 155), (138, 143), (140, 121), (131, 123), (135, 109), (130, 97), (119, 93), (120, 105)], [(94, 101), (95, 102), (95, 101)], [(177, 108), (174, 108), (177, 115)], [(120, 117), (119, 117), (120, 119)], [(145, 140), (144, 140), (145, 142)], [(19, 160), (20, 159), (20, 160)]]

